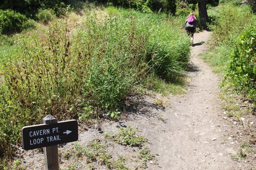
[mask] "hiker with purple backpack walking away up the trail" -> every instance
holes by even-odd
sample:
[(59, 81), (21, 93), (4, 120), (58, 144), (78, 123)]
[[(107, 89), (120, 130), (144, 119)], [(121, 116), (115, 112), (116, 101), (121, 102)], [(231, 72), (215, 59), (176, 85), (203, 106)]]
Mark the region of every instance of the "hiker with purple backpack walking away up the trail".
[(185, 30), (188, 32), (188, 36), (190, 36), (191, 44), (193, 44), (194, 33), (196, 32), (196, 16), (194, 12), (190, 12), (188, 17), (185, 20)]

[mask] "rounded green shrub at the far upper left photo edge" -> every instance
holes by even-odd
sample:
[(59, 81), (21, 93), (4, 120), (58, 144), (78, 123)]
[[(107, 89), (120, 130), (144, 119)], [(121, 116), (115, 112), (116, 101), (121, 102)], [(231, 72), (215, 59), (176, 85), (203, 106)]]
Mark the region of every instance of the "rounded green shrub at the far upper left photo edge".
[(27, 18), (12, 10), (0, 10), (0, 34), (21, 31), (22, 24)]

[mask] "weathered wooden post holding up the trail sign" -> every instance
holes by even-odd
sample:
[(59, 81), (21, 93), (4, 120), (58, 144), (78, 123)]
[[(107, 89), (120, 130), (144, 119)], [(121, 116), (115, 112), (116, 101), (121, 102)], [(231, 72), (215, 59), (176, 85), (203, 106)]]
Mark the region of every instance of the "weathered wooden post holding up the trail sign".
[[(52, 115), (47, 115), (43, 119), (44, 124), (56, 123), (57, 120)], [(44, 147), (45, 170), (59, 170), (58, 145)]]

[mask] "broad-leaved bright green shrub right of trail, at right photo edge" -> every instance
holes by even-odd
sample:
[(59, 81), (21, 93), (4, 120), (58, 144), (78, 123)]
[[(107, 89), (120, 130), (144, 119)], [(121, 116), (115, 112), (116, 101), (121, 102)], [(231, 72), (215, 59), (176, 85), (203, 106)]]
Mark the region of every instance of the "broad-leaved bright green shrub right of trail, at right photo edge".
[(236, 40), (225, 79), (245, 97), (256, 102), (256, 25), (247, 28)]

